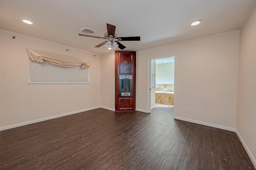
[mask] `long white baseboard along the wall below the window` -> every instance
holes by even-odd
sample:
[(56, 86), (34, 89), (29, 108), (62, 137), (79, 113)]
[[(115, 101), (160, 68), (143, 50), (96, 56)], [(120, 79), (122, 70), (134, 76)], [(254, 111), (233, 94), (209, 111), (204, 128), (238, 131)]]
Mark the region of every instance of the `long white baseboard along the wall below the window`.
[(63, 114), (60, 114), (60, 115), (45, 117), (45, 118), (42, 118), (42, 119), (36, 119), (36, 120), (32, 120), (32, 121), (17, 123), (17, 124), (14, 124), (14, 125), (8, 125), (8, 126), (5, 126), (5, 127), (0, 127), (0, 131), (10, 129), (10, 128), (21, 127), (21, 126), (29, 125), (29, 124), (32, 124), (32, 123), (47, 121), (47, 120), (55, 119), (55, 118), (58, 118), (58, 117), (68, 116), (68, 115), (72, 115), (72, 114), (75, 114), (75, 113), (90, 111), (92, 109), (98, 109), (98, 108), (100, 108), (100, 106), (91, 107), (91, 108), (88, 108), (88, 109), (82, 109), (82, 110), (78, 110), (78, 111), (73, 111), (73, 112), (69, 112), (69, 113), (63, 113)]

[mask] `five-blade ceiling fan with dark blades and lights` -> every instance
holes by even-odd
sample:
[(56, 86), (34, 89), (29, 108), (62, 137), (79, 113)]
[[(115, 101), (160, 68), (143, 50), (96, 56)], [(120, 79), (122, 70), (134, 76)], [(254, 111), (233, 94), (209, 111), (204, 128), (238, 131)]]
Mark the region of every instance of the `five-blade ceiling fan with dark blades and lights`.
[(79, 36), (85, 36), (85, 37), (91, 37), (91, 38), (100, 38), (107, 40), (105, 42), (100, 43), (99, 45), (96, 45), (95, 47), (101, 47), (104, 45), (108, 49), (116, 49), (119, 47), (120, 49), (125, 49), (126, 46), (121, 44), (119, 41), (140, 41), (140, 37), (118, 37), (116, 32), (116, 26), (113, 26), (111, 24), (107, 24), (107, 31), (104, 34), (104, 37), (98, 37), (98, 36), (90, 36), (86, 34), (78, 34)]

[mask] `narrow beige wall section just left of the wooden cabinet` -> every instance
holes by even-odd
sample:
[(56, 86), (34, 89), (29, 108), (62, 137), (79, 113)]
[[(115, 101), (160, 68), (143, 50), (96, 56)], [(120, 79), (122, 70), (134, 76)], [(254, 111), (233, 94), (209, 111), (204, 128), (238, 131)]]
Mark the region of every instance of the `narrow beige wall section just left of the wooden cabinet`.
[[(114, 51), (101, 55), (101, 106), (115, 110), (115, 55)], [(108, 99), (108, 102), (105, 102)]]

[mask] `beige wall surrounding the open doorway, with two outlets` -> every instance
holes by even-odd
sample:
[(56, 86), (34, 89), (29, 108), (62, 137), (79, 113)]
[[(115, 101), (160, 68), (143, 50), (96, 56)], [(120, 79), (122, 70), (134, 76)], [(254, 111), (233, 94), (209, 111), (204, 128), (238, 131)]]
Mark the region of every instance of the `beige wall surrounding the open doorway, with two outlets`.
[(176, 117), (236, 128), (239, 34), (138, 51), (136, 109), (148, 108), (148, 60), (175, 56)]

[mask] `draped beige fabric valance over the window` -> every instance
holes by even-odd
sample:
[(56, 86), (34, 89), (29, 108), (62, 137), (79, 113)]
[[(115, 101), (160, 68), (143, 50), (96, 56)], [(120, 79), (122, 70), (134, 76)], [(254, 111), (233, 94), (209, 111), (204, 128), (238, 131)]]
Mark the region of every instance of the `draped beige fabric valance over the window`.
[(81, 65), (82, 69), (86, 69), (91, 65), (91, 61), (83, 58), (50, 53), (47, 51), (27, 48), (27, 53), (30, 59), (34, 62), (44, 63), (44, 61), (47, 61), (48, 63), (59, 67), (77, 67)]

